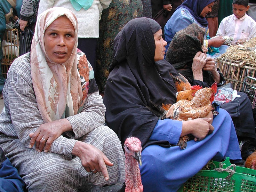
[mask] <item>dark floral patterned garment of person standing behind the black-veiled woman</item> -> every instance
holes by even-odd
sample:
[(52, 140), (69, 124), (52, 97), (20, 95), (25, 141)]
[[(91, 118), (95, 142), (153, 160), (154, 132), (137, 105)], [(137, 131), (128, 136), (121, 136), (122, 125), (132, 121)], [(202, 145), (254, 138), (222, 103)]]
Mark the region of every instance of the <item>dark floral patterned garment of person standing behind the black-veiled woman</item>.
[(100, 91), (105, 90), (109, 75), (108, 68), (113, 59), (113, 43), (117, 33), (128, 21), (138, 17), (143, 17), (141, 0), (113, 0), (108, 9), (102, 11), (95, 70), (95, 79)]

